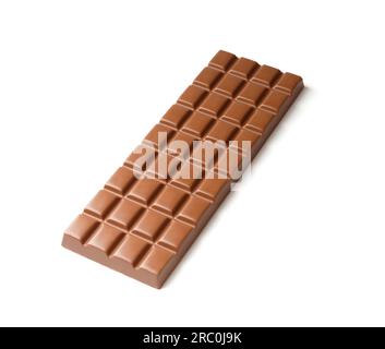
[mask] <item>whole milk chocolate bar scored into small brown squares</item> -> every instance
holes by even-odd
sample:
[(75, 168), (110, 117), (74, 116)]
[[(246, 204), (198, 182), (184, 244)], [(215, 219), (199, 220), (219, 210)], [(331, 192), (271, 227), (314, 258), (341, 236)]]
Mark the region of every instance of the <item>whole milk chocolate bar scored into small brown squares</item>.
[[(224, 141), (239, 160), (241, 148), (230, 141), (250, 141), (253, 158), (302, 87), (298, 75), (217, 52), (140, 145), (143, 154), (156, 147), (155, 156), (148, 155), (147, 166), (153, 166), (136, 161), (142, 154), (129, 155), (65, 230), (63, 246), (160, 288), (230, 191), (233, 169), (225, 168), (222, 178), (206, 178), (206, 172), (224, 172), (222, 157), (196, 159), (193, 141)], [(158, 132), (168, 135), (161, 146)], [(188, 148), (170, 144), (177, 140)], [(137, 169), (160, 173), (163, 156), (179, 156), (173, 172), (194, 169), (203, 178), (134, 176)], [(202, 171), (202, 164), (208, 170)]]

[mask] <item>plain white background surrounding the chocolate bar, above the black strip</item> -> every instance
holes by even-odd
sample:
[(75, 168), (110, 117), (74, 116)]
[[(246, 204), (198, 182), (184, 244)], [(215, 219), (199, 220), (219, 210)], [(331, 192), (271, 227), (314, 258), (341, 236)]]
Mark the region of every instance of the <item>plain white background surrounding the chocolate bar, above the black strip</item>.
[[(1, 1), (0, 325), (385, 325), (382, 1)], [(219, 49), (306, 89), (161, 290), (62, 232)]]

